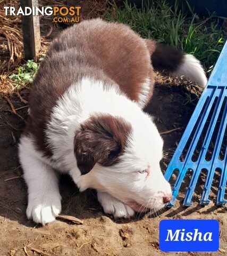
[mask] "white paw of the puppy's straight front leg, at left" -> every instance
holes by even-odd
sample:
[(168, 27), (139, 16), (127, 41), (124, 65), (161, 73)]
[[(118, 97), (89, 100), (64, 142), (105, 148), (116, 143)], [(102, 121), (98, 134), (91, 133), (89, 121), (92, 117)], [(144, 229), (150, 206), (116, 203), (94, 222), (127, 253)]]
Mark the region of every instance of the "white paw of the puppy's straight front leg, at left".
[(55, 217), (61, 212), (61, 197), (60, 198), (36, 198), (29, 199), (27, 207), (28, 219), (33, 219), (36, 223), (45, 225), (46, 223), (55, 220)]

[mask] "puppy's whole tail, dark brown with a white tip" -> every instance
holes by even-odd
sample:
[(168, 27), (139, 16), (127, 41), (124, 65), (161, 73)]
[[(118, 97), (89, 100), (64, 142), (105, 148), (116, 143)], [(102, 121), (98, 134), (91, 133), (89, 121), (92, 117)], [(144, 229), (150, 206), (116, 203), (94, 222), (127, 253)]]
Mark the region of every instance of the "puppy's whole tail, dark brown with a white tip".
[(150, 50), (154, 69), (158, 71), (165, 70), (174, 77), (183, 76), (197, 83), (200, 87), (205, 87), (207, 83), (205, 71), (200, 61), (193, 55), (184, 53), (168, 45), (158, 44), (154, 41), (150, 42), (150, 39), (146, 39), (146, 43)]

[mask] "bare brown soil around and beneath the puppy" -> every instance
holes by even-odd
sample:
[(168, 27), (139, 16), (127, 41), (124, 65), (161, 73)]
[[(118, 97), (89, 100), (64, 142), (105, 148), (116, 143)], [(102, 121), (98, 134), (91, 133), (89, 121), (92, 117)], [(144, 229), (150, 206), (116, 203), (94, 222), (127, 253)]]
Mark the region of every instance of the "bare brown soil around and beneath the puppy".
[[(165, 157), (163, 171), (186, 128), (198, 100), (196, 86), (168, 77), (158, 76), (152, 100), (146, 108), (155, 117), (163, 134)], [(20, 91), (28, 100), (29, 88)], [(187, 103), (186, 94), (192, 102)], [(26, 106), (16, 94), (9, 97), (14, 108)], [(190, 180), (184, 179), (181, 191), (172, 209), (150, 215), (137, 215), (130, 220), (114, 220), (104, 214), (97, 202), (96, 192), (79, 193), (68, 176), (61, 177), (62, 213), (83, 221), (78, 225), (71, 221), (56, 220), (45, 227), (26, 218), (27, 187), (18, 162), (18, 141), (25, 125), (27, 107), (16, 110), (0, 98), (0, 255), (165, 255), (158, 245), (158, 225), (162, 219), (216, 219), (220, 223), (220, 251), (216, 253), (183, 253), (186, 255), (226, 255), (227, 214), (226, 207), (216, 207), (218, 175), (215, 174), (210, 195), (211, 203), (199, 206), (205, 175), (201, 174), (188, 208), (182, 207), (182, 199)], [(14, 178), (14, 179), (10, 179)], [(10, 180), (9, 180), (10, 179)], [(175, 255), (176, 253), (172, 253)]]

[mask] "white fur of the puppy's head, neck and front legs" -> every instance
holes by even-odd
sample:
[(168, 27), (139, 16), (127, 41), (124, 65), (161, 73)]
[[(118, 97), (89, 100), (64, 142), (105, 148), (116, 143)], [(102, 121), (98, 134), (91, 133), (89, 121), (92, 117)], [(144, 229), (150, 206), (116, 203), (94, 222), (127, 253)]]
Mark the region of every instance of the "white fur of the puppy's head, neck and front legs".
[[(81, 175), (73, 151), (74, 133), (83, 121), (101, 113), (125, 119), (132, 126), (132, 134), (119, 163), (95, 164), (88, 174)], [(87, 188), (100, 191), (99, 202), (115, 218), (131, 217), (132, 201), (154, 210), (164, 206), (163, 196), (170, 194), (171, 188), (159, 167), (163, 141), (150, 116), (116, 85), (104, 85), (92, 78), (73, 84), (53, 108), (46, 134), (54, 162), (34, 148), (31, 134), (20, 142), (20, 161), (29, 192), (29, 218), (45, 224), (61, 211), (57, 177), (51, 167), (69, 173), (81, 191)], [(148, 177), (139, 173), (148, 166)]]

